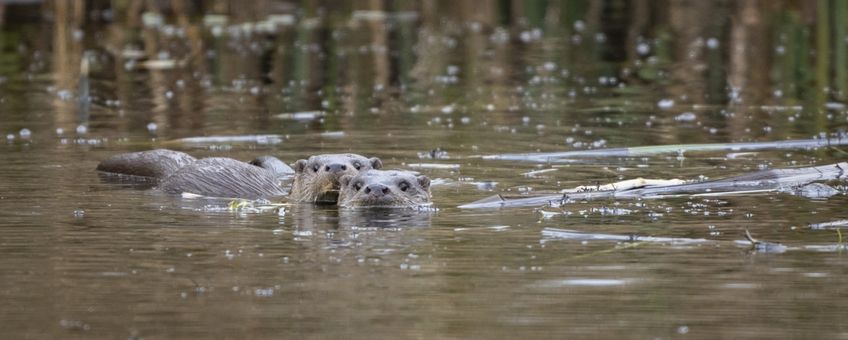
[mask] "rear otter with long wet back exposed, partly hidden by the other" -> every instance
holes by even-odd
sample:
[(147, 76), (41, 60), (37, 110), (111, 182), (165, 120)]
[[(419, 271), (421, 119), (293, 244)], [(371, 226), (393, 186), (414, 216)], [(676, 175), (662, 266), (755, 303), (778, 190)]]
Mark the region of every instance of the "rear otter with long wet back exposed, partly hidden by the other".
[[(382, 163), (378, 158), (344, 154), (312, 156), (294, 165), (296, 170), (272, 156), (245, 163), (223, 157), (196, 159), (183, 152), (157, 149), (112, 156), (100, 162), (97, 170), (150, 180), (167, 193), (246, 199), (287, 195), (280, 181), (294, 174), (290, 200), (335, 203), (332, 190), (338, 188), (340, 176), (379, 168)], [(318, 171), (314, 171), (316, 167)]]

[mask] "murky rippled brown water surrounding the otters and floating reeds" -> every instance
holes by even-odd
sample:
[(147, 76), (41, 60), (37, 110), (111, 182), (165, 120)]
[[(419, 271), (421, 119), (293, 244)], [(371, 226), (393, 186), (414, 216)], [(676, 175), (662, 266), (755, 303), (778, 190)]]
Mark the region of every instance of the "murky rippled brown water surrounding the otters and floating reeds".
[[(308, 6), (271, 6), (299, 14), (266, 33), (240, 24), (266, 19), (260, 5), (260, 14), (235, 10), (227, 25), (177, 13), (164, 26), (155, 16), (94, 20), (90, 8), (61, 5), (49, 9), (55, 21), (32, 22), (30, 11), (7, 8), (0, 333), (848, 337), (845, 250), (835, 229), (809, 227), (848, 218), (844, 194), (456, 208), (500, 192), (845, 161), (844, 148), (561, 166), (476, 157), (844, 131), (846, 64), (833, 61), (844, 57), (844, 37), (817, 45), (803, 35), (818, 29), (816, 8), (552, 4), (541, 19), (530, 5), (504, 19), (497, 2), (480, 4), (398, 5), (388, 18), (345, 7), (324, 20)], [(513, 24), (496, 28), (503, 20)], [(831, 54), (810, 56), (811, 44)], [(136, 51), (148, 57), (130, 58)], [(88, 110), (78, 104), (84, 55)], [(304, 113), (313, 111), (323, 114)], [(279, 138), (180, 141), (264, 134)], [(227, 202), (105, 182), (94, 171), (110, 155), (157, 147), (241, 160), (377, 156), (434, 179), (438, 211), (231, 212)], [(446, 158), (419, 156), (437, 148)], [(545, 228), (710, 242), (583, 242)], [(745, 229), (788, 249), (752, 252), (735, 243)]]

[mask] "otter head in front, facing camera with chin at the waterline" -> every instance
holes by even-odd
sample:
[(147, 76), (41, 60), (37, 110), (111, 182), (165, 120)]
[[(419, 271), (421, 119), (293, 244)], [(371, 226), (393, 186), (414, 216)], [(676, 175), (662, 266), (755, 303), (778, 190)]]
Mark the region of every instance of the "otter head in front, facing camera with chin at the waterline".
[(430, 203), (430, 179), (410, 171), (369, 170), (341, 179), (339, 206), (418, 208)]

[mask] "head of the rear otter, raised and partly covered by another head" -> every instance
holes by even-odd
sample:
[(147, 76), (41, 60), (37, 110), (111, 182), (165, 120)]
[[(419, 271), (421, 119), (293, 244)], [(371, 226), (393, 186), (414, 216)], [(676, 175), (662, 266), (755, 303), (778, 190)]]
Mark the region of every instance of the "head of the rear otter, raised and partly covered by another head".
[(298, 202), (336, 203), (342, 176), (381, 167), (383, 163), (379, 158), (350, 153), (301, 159), (292, 165), (295, 174), (289, 198)]

